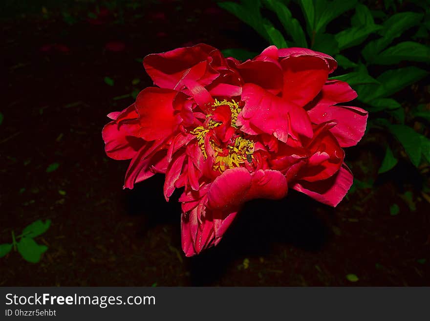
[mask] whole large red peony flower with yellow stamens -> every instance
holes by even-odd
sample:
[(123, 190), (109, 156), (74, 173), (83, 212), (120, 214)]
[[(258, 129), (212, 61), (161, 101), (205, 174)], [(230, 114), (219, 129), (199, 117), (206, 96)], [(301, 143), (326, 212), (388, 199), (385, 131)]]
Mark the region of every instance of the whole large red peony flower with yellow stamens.
[(357, 95), (328, 81), (336, 61), (303, 48), (268, 47), (246, 62), (206, 44), (152, 54), (158, 87), (108, 115), (106, 153), (131, 159), (124, 188), (166, 175), (166, 200), (184, 191), (182, 248), (216, 245), (243, 203), (280, 199), (288, 186), (336, 206), (352, 184), (342, 147), (355, 145), (367, 113), (338, 106)]

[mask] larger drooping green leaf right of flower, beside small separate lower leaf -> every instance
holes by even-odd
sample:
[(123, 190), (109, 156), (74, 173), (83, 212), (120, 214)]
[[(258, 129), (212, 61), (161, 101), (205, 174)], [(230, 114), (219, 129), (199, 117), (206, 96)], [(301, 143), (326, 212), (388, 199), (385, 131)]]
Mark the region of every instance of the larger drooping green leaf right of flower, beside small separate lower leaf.
[(388, 129), (402, 144), (412, 164), (418, 167), (421, 160), (421, 135), (405, 125), (390, 125)]

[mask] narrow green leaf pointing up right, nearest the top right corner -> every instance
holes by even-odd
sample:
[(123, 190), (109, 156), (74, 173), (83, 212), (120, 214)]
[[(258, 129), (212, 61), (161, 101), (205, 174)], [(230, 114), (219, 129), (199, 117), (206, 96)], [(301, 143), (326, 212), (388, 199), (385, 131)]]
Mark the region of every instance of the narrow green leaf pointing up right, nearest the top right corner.
[(382, 38), (367, 43), (362, 51), (363, 57), (367, 62), (372, 62), (379, 52), (403, 32), (419, 24), (422, 18), (422, 14), (415, 12), (401, 12), (392, 15), (383, 23), (383, 28), (379, 31)]

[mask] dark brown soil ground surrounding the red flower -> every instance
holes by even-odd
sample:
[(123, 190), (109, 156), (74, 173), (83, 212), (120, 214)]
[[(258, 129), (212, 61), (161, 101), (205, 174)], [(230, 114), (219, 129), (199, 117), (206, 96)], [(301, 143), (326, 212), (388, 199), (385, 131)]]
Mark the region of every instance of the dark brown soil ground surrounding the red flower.
[[(37, 239), (49, 247), (39, 263), (0, 258), (0, 286), (430, 285), (426, 178), (407, 161), (377, 177), (378, 132), (346, 150), (374, 188), (336, 209), (294, 191), (252, 201), (219, 246), (185, 257), (179, 194), (165, 202), (162, 175), (122, 190), (128, 161), (105, 155), (106, 115), (151, 86), (147, 54), (199, 42), (260, 51), (264, 41), (212, 1), (118, 1), (100, 12), (87, 1), (14, 2), (0, 10), (0, 243), (36, 219), (52, 225)], [(427, 85), (401, 95), (415, 103)]]

